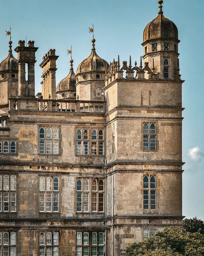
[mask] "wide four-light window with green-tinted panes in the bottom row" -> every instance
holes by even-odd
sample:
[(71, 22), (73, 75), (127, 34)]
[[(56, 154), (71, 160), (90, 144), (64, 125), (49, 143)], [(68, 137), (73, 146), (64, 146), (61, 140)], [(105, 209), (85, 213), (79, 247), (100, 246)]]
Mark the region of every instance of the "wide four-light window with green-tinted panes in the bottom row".
[(104, 232), (77, 232), (76, 256), (104, 256)]

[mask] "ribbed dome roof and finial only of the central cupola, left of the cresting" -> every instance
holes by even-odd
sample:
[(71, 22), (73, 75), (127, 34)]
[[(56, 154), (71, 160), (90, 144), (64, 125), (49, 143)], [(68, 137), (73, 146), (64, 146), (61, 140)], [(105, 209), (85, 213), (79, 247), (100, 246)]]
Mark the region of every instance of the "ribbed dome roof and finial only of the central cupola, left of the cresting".
[(90, 71), (102, 71), (105, 72), (105, 66), (109, 67), (107, 61), (103, 60), (96, 54), (95, 43), (96, 40), (92, 39), (92, 51), (90, 56), (82, 61), (79, 66), (77, 67), (77, 74), (90, 72)]

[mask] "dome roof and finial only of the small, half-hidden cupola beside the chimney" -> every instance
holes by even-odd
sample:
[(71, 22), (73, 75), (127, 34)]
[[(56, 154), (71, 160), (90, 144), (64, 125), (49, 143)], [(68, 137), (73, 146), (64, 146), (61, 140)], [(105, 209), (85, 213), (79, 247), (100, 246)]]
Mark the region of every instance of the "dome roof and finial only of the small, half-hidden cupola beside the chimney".
[(57, 85), (56, 88), (56, 93), (60, 92), (60, 91), (65, 91), (65, 90), (76, 90), (76, 78), (75, 78), (75, 74), (74, 74), (74, 70), (73, 70), (73, 63), (74, 61), (71, 59), (70, 60), (70, 71), (67, 77), (65, 77), (64, 79), (62, 79), (62, 81), (60, 81)]

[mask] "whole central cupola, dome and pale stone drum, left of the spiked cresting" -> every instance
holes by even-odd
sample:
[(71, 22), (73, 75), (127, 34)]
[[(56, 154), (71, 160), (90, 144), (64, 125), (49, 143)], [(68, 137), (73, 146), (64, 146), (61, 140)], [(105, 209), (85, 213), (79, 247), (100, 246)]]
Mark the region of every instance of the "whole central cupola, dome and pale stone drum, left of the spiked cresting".
[(96, 40), (92, 39), (90, 56), (82, 61), (76, 74), (77, 96), (80, 100), (103, 100), (102, 88), (105, 86), (105, 69), (109, 64), (96, 54)]

